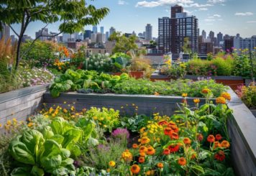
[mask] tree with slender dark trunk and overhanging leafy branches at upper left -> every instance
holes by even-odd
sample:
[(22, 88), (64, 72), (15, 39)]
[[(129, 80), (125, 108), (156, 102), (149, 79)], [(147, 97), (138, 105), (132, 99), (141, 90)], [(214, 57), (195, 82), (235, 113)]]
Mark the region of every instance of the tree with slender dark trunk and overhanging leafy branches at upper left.
[[(8, 25), (14, 34), (18, 37), (16, 64), (18, 68), (19, 61), (27, 54), (32, 45), (40, 37), (55, 37), (63, 32), (80, 32), (85, 25), (95, 25), (103, 19), (109, 9), (96, 9), (93, 5), (88, 5), (86, 0), (1, 0), (0, 2), (0, 27), (1, 24)], [(28, 50), (21, 53), (20, 47), (22, 37), (31, 22), (40, 21), (45, 23), (45, 29), (48, 24), (60, 21), (59, 33), (55, 35), (39, 34), (32, 42)], [(12, 27), (12, 24), (21, 24), (20, 32)]]

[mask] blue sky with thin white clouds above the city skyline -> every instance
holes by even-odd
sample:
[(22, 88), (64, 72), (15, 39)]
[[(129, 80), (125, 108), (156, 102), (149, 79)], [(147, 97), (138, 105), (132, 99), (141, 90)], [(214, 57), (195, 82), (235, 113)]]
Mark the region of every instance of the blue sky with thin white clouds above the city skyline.
[[(103, 26), (104, 32), (114, 27), (119, 32), (134, 31), (138, 34), (145, 31), (147, 24), (151, 24), (152, 36), (157, 37), (158, 18), (170, 17), (170, 6), (179, 4), (188, 15), (198, 18), (200, 34), (204, 29), (206, 35), (211, 30), (215, 35), (219, 32), (229, 35), (239, 33), (241, 37), (256, 35), (256, 0), (94, 0), (90, 3), (96, 8), (110, 9), (98, 25), (98, 31)], [(58, 24), (49, 24), (49, 31), (58, 32)], [(42, 22), (29, 24), (25, 34), (35, 37), (35, 32), (44, 26)], [(19, 30), (19, 25), (14, 24), (14, 29)]]

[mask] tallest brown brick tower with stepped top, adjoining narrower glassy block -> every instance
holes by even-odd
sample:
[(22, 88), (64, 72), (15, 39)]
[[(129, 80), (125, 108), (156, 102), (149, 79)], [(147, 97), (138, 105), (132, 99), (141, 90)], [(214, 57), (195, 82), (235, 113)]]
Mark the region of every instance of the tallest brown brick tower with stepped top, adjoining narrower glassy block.
[(191, 52), (198, 52), (198, 19), (183, 12), (182, 6), (171, 7), (171, 52), (183, 52), (184, 39), (188, 37)]

